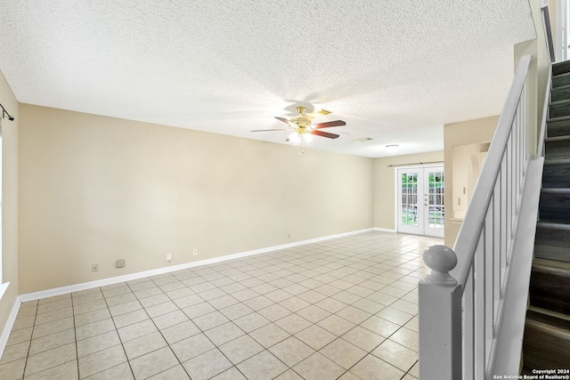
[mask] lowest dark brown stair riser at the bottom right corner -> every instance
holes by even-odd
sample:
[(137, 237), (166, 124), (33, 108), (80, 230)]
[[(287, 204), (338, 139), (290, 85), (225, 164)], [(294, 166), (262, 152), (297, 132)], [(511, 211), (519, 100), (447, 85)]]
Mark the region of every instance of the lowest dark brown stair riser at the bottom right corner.
[(568, 368), (570, 341), (548, 329), (526, 323), (523, 341), (525, 368)]

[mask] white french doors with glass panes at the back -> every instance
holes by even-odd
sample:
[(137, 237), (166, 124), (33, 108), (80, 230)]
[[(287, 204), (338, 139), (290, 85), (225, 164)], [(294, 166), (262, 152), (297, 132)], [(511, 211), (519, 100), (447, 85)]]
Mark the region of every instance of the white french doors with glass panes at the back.
[(398, 168), (398, 232), (444, 237), (444, 166)]

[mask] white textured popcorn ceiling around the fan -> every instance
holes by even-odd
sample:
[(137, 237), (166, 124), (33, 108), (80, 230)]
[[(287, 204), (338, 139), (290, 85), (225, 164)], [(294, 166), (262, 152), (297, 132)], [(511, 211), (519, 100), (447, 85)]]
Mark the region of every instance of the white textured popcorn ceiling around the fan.
[(308, 102), (346, 121), (313, 148), (376, 158), (499, 114), (534, 37), (528, 0), (2, 0), (0, 70), (22, 103), (282, 143), (249, 131)]

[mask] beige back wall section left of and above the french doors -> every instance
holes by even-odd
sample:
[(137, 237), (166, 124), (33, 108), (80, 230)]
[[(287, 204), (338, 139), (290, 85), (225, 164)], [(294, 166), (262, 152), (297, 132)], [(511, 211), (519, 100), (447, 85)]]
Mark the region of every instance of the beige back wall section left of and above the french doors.
[[(444, 162), (444, 152), (374, 159), (374, 226), (395, 230), (395, 166)], [(447, 180), (445, 180), (447, 182)]]

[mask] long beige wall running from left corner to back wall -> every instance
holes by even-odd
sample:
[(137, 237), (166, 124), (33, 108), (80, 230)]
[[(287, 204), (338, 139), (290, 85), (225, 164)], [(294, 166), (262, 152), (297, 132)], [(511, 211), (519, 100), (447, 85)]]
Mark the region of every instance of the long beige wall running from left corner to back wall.
[(20, 294), (371, 228), (372, 166), (20, 104)]

